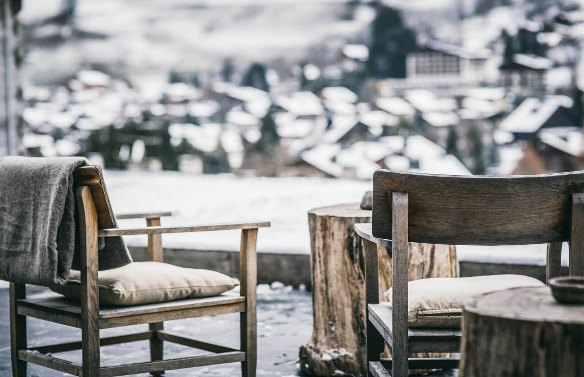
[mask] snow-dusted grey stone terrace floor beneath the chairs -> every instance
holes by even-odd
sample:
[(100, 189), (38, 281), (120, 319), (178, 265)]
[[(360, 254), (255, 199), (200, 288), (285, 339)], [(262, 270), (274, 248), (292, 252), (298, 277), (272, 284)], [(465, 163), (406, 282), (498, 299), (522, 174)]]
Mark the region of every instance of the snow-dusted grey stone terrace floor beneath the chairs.
[[(33, 294), (46, 288), (27, 287)], [(239, 315), (222, 314), (214, 317), (169, 321), (165, 328), (184, 333), (211, 343), (238, 348)], [(29, 344), (50, 344), (75, 341), (81, 330), (59, 324), (28, 319)], [(102, 330), (102, 336), (144, 331), (145, 325)], [(310, 292), (292, 290), (279, 283), (258, 286), (258, 377), (292, 377), (297, 372), (298, 348), (307, 343), (312, 333), (312, 303)], [(165, 342), (165, 356), (187, 357), (197, 350)], [(81, 362), (81, 351), (62, 352), (58, 357)], [(102, 347), (102, 365), (147, 361), (150, 357), (148, 341), (138, 341)], [(12, 376), (10, 366), (8, 289), (0, 288), (0, 377)], [(28, 375), (37, 377), (63, 376), (64, 373), (29, 364)], [(202, 366), (166, 372), (166, 376), (241, 376), (239, 363)], [(454, 377), (454, 371), (433, 373), (433, 376)], [(143, 376), (148, 376), (144, 374)]]

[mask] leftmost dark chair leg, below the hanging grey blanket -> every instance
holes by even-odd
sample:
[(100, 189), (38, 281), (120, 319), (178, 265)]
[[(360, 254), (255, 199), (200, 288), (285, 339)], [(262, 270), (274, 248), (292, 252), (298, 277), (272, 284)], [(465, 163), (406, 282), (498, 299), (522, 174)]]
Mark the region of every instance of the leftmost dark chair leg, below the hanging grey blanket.
[(18, 359), (18, 350), (27, 347), (26, 316), (16, 314), (16, 300), (26, 297), (24, 284), (10, 283), (10, 347), (12, 360), (12, 376), (26, 377), (26, 361)]

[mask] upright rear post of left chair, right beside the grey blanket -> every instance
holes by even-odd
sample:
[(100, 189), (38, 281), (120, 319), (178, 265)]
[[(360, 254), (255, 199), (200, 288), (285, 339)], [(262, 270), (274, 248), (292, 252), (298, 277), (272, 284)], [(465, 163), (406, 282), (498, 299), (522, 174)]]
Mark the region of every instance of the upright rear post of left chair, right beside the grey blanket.
[(88, 186), (76, 192), (81, 246), (83, 377), (99, 377), (98, 214)]

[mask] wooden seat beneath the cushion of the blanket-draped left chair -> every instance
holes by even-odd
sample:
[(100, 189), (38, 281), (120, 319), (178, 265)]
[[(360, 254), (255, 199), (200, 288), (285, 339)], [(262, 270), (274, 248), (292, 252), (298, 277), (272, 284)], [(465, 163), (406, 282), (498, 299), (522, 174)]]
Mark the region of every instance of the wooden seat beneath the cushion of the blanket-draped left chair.
[[(16, 306), (19, 314), (81, 328), (78, 300), (47, 292), (16, 300)], [(99, 324), (100, 328), (109, 328), (237, 312), (245, 312), (245, 297), (226, 292), (219, 296), (136, 306), (100, 305)]]

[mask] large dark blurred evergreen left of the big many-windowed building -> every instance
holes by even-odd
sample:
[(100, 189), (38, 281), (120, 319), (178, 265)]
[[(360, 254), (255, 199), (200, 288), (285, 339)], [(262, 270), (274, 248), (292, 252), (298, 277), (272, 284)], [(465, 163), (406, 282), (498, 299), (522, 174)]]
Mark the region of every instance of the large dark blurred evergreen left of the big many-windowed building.
[(404, 78), (406, 55), (416, 48), (416, 34), (397, 9), (381, 5), (371, 23), (371, 47), (367, 65), (374, 77)]

